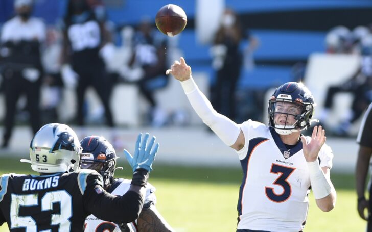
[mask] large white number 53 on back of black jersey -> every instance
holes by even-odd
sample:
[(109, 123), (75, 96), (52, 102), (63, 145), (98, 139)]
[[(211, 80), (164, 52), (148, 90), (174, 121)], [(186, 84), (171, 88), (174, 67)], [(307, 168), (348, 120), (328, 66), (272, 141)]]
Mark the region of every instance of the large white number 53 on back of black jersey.
[[(59, 203), (61, 212), (52, 214), (51, 225), (59, 225), (59, 231), (69, 231), (72, 216), (71, 195), (64, 190), (45, 193), (41, 198), (41, 211), (53, 210), (53, 203)], [(36, 232), (37, 225), (30, 216), (19, 216), (20, 207), (31, 207), (38, 205), (38, 194), (16, 195), (12, 194), (12, 203), (10, 206), (10, 228), (26, 228), (27, 232)]]

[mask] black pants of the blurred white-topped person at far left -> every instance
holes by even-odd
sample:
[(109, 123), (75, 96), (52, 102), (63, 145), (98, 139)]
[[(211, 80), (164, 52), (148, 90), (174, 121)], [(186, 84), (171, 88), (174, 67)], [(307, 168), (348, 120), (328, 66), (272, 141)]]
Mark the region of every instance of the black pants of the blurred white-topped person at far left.
[(7, 70), (4, 74), (4, 93), (6, 113), (4, 119), (5, 132), (3, 145), (7, 146), (14, 127), (14, 117), (19, 96), (26, 94), (27, 109), (30, 113), (30, 122), (33, 133), (40, 129), (40, 80), (30, 82), (20, 71)]

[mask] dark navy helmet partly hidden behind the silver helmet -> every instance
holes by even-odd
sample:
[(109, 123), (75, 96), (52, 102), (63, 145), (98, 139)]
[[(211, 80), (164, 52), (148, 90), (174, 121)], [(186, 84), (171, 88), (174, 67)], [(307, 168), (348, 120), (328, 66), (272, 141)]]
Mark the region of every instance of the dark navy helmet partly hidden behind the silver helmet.
[(87, 136), (80, 142), (83, 148), (81, 168), (96, 170), (102, 175), (104, 186), (108, 186), (119, 158), (113, 146), (104, 137), (95, 135)]

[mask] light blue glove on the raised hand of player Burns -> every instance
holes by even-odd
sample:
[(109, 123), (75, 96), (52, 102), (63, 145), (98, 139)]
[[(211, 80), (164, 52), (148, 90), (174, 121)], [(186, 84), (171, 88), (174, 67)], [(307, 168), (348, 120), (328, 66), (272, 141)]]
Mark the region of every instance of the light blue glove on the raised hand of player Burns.
[[(152, 163), (154, 162), (156, 153), (159, 149), (159, 143), (156, 143), (155, 147), (152, 146), (155, 143), (155, 136), (151, 138), (151, 141), (148, 146), (147, 140), (149, 139), (149, 133), (145, 134), (145, 138), (142, 140), (142, 133), (139, 133), (137, 137), (137, 142), (135, 143), (135, 150), (134, 156), (129, 153), (126, 149), (124, 149), (125, 157), (127, 158), (130, 166), (132, 167), (133, 172), (138, 168), (144, 168), (148, 172), (152, 171)], [(141, 147), (139, 144), (141, 143)]]

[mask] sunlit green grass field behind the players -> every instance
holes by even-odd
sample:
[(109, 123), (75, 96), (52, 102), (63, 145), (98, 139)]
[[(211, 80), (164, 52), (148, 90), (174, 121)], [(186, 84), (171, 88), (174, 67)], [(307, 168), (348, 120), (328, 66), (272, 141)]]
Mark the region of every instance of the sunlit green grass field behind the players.
[[(117, 177), (130, 178), (130, 168), (117, 171)], [(30, 173), (29, 164), (18, 159), (0, 158), (0, 174)], [(156, 187), (157, 208), (176, 231), (235, 231), (236, 204), (241, 170), (233, 168), (190, 168), (154, 165), (150, 182)], [(365, 222), (356, 211), (354, 177), (332, 174), (337, 190), (336, 208), (321, 212), (311, 195), (305, 231), (364, 231)], [(8, 231), (6, 225), (0, 232)]]

